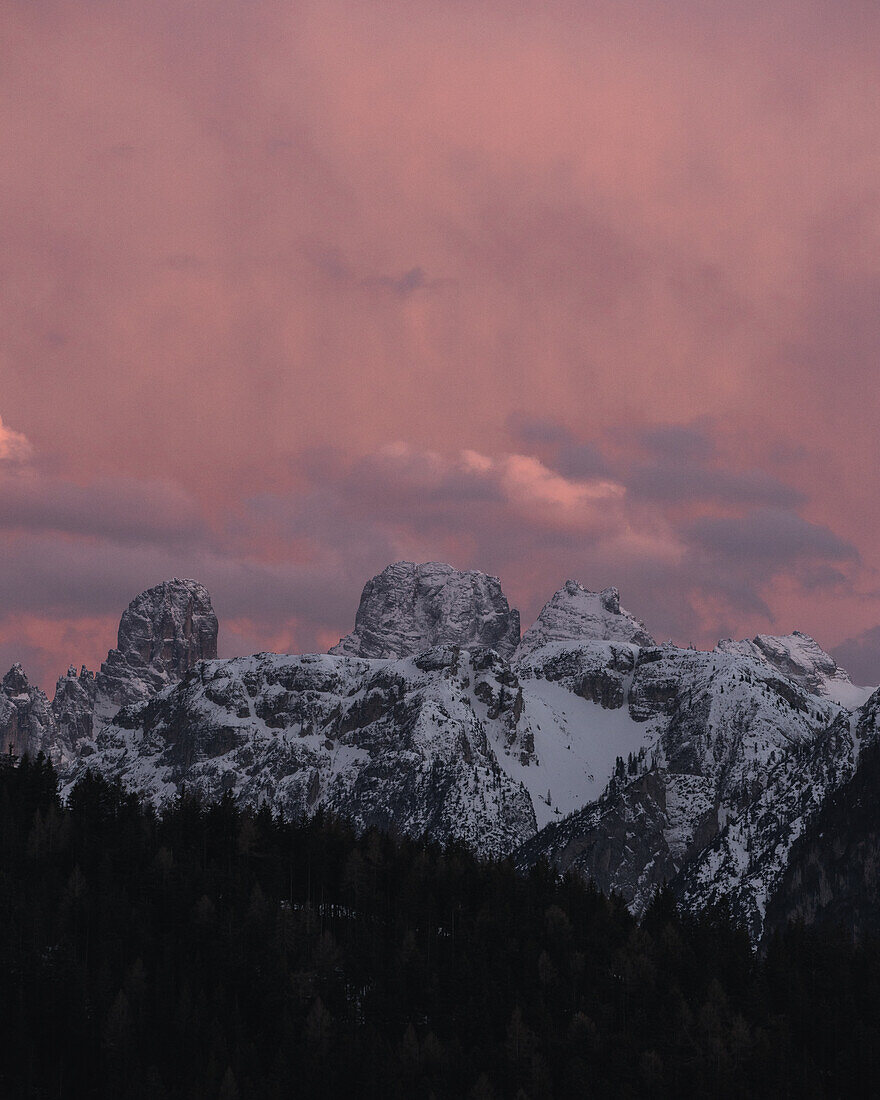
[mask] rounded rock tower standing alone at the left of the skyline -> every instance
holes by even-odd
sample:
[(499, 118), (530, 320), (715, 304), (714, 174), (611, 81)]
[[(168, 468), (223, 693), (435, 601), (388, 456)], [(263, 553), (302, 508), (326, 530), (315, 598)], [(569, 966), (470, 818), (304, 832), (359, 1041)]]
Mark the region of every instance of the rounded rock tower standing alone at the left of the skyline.
[(205, 585), (175, 579), (147, 588), (123, 613), (117, 648), (97, 675), (98, 710), (145, 702), (216, 657), (217, 616)]

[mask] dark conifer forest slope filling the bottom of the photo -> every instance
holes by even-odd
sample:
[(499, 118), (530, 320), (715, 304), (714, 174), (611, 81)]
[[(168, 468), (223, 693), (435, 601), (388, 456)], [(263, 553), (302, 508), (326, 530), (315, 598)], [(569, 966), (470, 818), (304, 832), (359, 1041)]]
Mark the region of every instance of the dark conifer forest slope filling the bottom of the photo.
[(850, 1097), (880, 949), (546, 866), (0, 770), (0, 1096)]

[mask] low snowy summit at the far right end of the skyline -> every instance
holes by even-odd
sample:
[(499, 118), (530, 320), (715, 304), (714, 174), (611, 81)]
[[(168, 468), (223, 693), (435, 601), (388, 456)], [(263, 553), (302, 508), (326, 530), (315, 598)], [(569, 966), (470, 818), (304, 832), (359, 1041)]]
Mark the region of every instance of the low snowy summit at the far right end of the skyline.
[(715, 647), (721, 653), (738, 653), (769, 664), (813, 695), (823, 695), (845, 706), (855, 706), (869, 694), (857, 688), (831, 653), (815, 638), (801, 630), (791, 634), (759, 634), (755, 638), (733, 641), (724, 638)]

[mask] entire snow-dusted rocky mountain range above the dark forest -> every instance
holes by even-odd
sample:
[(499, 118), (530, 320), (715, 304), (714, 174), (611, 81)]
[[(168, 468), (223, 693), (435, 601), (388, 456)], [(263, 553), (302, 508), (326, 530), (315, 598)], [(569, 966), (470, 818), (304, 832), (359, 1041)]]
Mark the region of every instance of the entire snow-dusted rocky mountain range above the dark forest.
[(806, 635), (658, 646), (616, 588), (574, 581), (521, 640), (497, 579), (413, 562), (367, 582), (329, 653), (218, 660), (217, 629), (202, 585), (147, 590), (52, 704), (7, 674), (3, 744), (48, 751), (66, 788), (92, 768), (156, 804), (186, 784), (547, 858), (636, 911), (669, 881), (730, 900), (757, 937), (875, 737), (877, 696)]

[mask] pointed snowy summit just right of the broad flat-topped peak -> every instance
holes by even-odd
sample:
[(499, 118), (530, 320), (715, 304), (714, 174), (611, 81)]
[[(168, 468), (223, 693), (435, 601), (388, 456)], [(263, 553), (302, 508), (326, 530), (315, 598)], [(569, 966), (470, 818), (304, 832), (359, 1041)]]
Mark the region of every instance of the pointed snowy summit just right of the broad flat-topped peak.
[(617, 588), (591, 592), (578, 581), (565, 581), (544, 604), (535, 624), (525, 632), (517, 660), (553, 641), (627, 641), (653, 646), (645, 624), (620, 606)]

